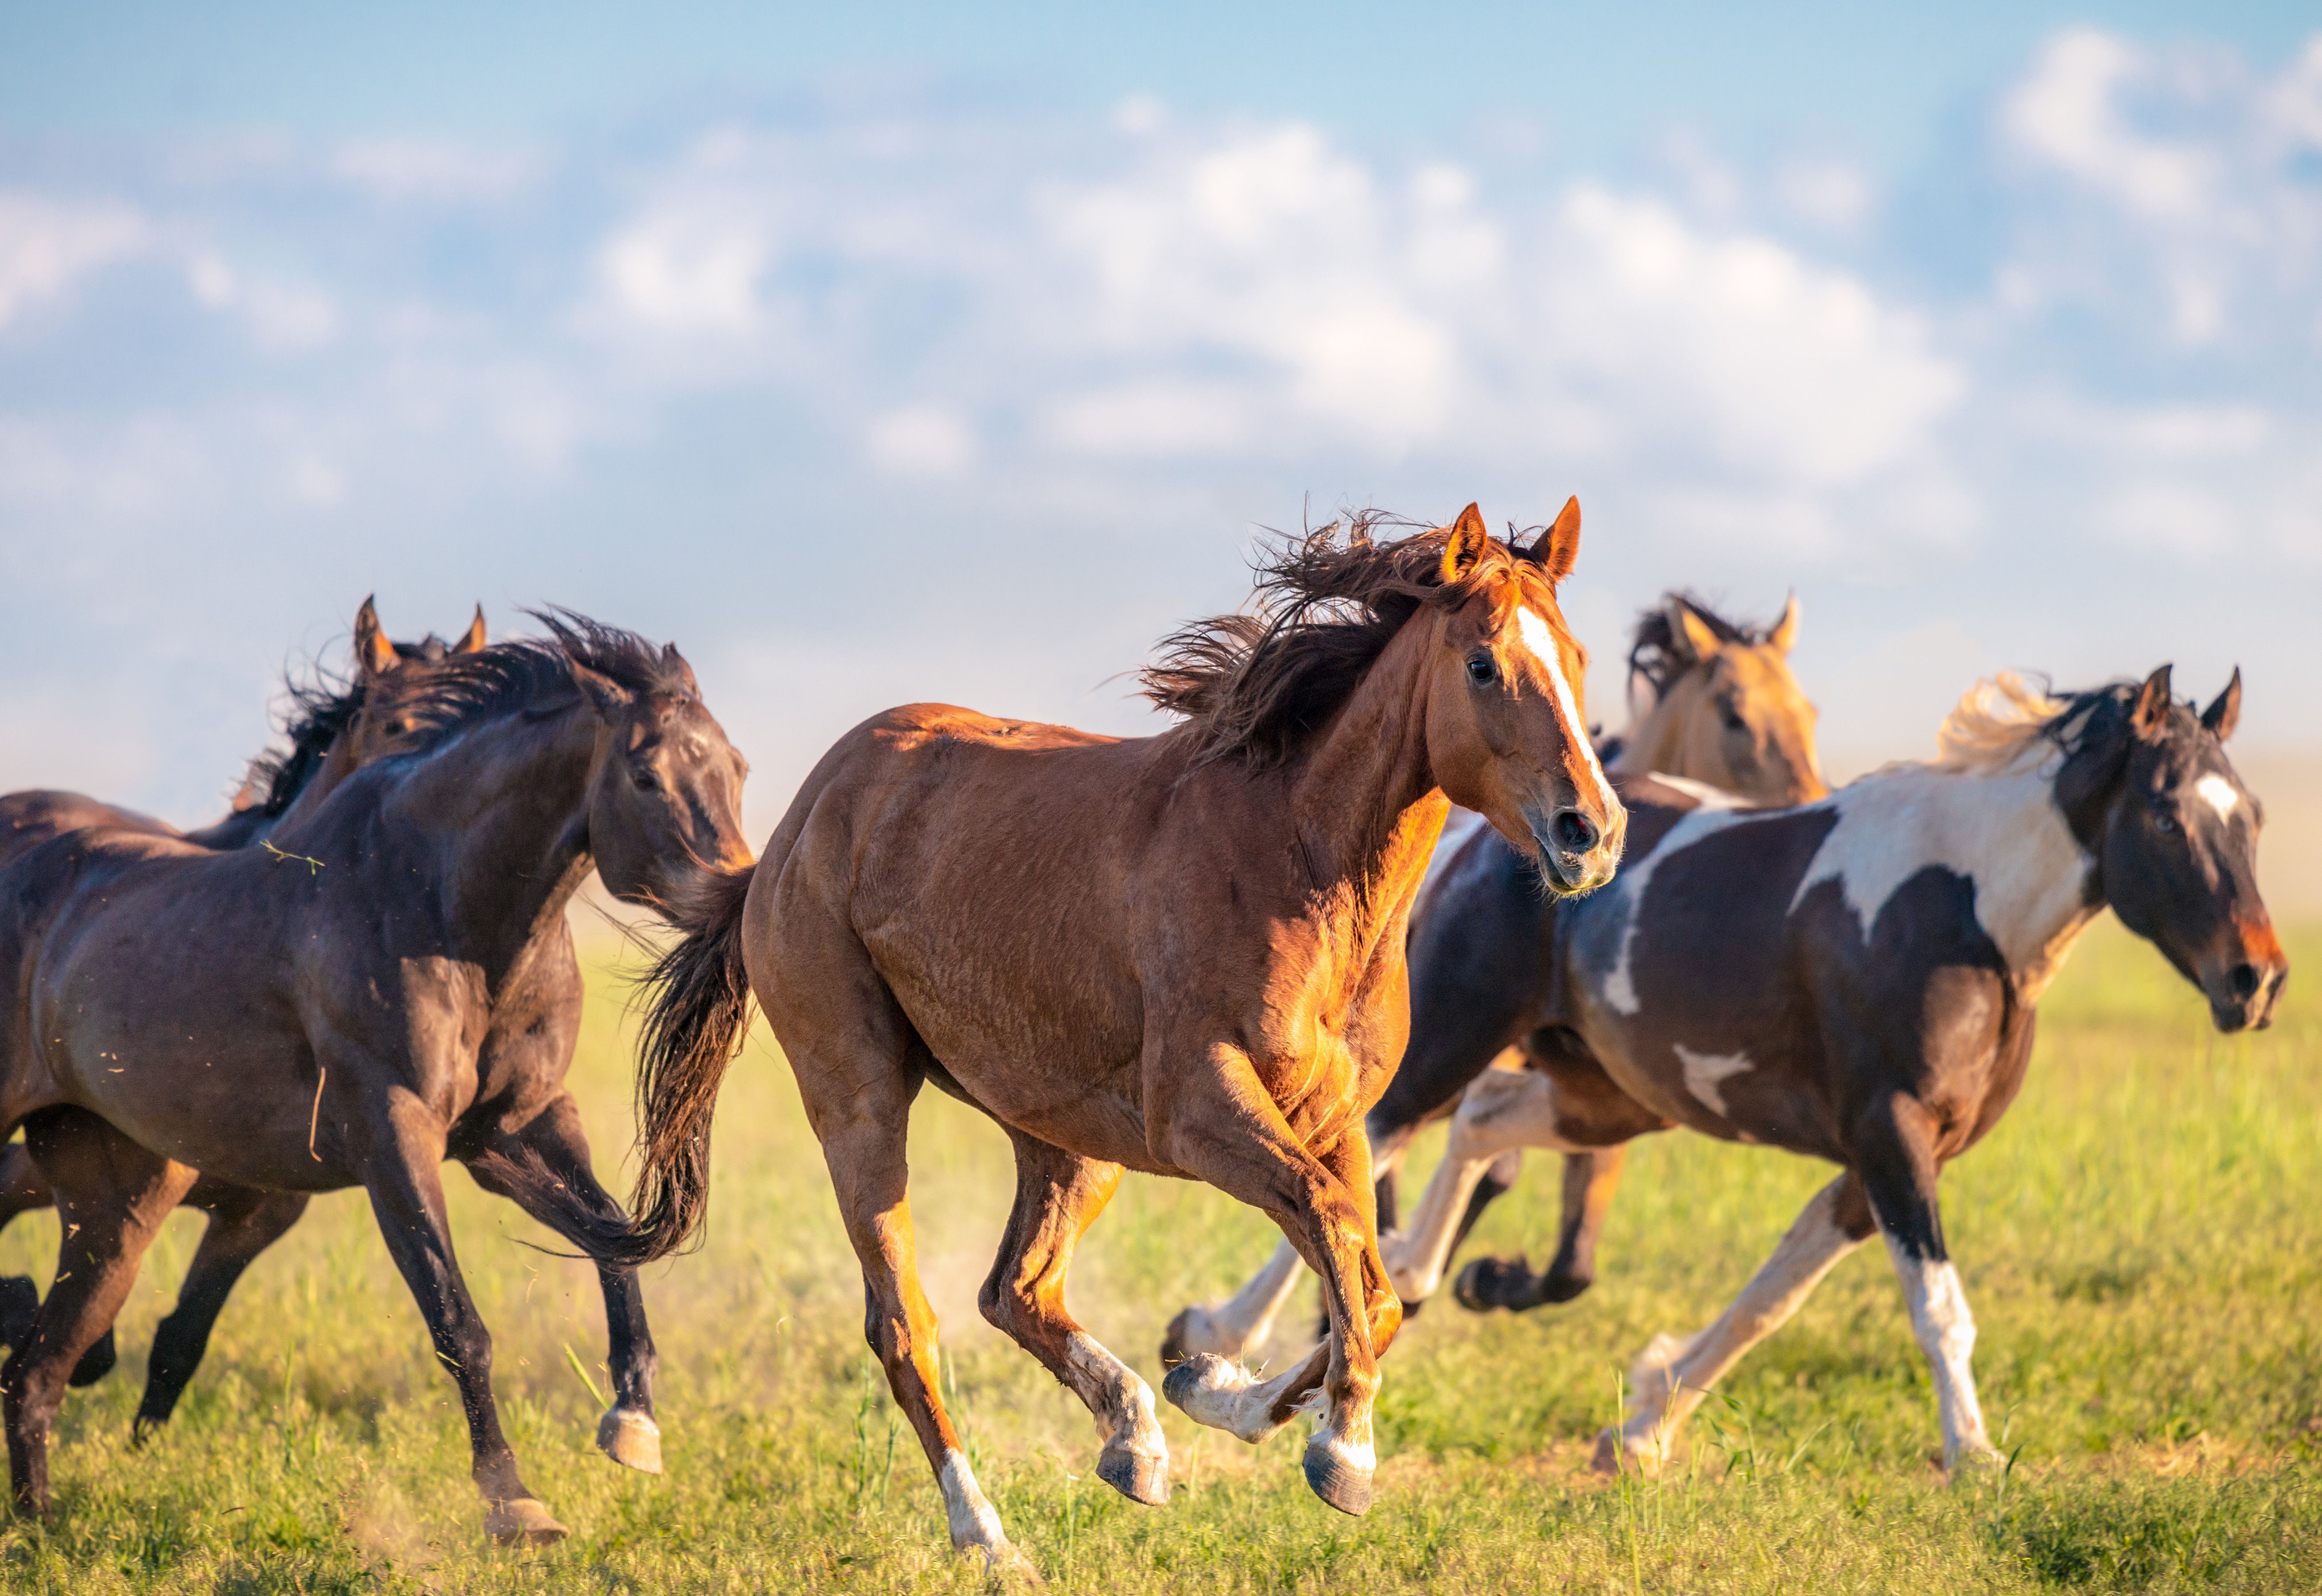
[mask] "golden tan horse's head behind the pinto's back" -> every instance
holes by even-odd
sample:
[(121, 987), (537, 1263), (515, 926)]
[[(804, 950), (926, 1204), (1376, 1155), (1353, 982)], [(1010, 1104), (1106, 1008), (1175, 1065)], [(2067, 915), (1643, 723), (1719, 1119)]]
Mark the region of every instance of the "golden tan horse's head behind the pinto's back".
[(1813, 750), (1813, 702), (1790, 674), (1797, 599), (1758, 632), (1683, 592), (1637, 623), (1630, 688), (1651, 704), (1623, 734), (1614, 769), (1690, 776), (1758, 804), (1827, 797)]

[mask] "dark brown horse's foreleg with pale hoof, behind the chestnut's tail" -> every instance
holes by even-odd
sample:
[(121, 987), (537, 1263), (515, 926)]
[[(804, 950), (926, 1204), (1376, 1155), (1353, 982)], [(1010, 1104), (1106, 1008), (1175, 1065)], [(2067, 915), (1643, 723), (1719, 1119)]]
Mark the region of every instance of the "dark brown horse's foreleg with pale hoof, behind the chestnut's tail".
[[(534, 1182), (502, 1180), (497, 1162), (509, 1155), (536, 1157), (564, 1185), (562, 1196), (578, 1203), (580, 1213), (539, 1201)], [(509, 1196), (567, 1241), (580, 1243), (583, 1224), (627, 1224), (622, 1206), (597, 1182), (587, 1131), (580, 1129), (580, 1108), (571, 1094), (557, 1097), (522, 1127), (495, 1134), (467, 1169), (476, 1176), (476, 1185)], [(657, 1475), (662, 1426), (652, 1417), (652, 1375), (659, 1357), (652, 1350), (652, 1329), (646, 1324), (646, 1292), (636, 1282), (636, 1268), (627, 1264), (597, 1264), (597, 1287), (604, 1292), (606, 1368), (613, 1373), (613, 1406), (597, 1419), (597, 1447), (615, 1464)]]

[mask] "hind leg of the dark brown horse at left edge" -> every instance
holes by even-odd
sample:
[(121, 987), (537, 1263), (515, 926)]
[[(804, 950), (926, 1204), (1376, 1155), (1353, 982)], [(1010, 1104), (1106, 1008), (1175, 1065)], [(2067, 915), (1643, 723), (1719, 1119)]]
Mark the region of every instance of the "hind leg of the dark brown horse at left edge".
[(146, 1152), (95, 1115), (53, 1108), (26, 1127), (26, 1143), (56, 1185), (63, 1243), (56, 1282), (33, 1333), (0, 1368), (9, 1484), (16, 1508), (49, 1510), (49, 1426), (72, 1366), (111, 1329), (137, 1264), (195, 1171)]

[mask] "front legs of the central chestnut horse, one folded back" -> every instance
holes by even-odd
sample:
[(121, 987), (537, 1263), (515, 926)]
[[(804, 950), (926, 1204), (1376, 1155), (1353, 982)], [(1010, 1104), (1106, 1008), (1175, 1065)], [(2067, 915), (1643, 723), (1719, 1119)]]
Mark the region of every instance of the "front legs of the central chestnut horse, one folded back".
[(1307, 1440), (1307, 1484), (1342, 1512), (1365, 1512), (1377, 1354), (1402, 1322), (1402, 1303), (1379, 1261), (1370, 1141), (1361, 1127), (1349, 1127), (1324, 1157), (1307, 1152), (1256, 1069), (1231, 1045), (1212, 1048), (1203, 1069), (1156, 1069), (1149, 1078), (1170, 1085), (1154, 1115), (1156, 1152), (1272, 1215), (1321, 1275), (1331, 1313), (1331, 1338), (1275, 1380), (1259, 1382), (1221, 1357), (1194, 1357), (1170, 1371), (1163, 1394), (1187, 1417), (1242, 1440), (1263, 1440), (1319, 1396), (1324, 1422)]

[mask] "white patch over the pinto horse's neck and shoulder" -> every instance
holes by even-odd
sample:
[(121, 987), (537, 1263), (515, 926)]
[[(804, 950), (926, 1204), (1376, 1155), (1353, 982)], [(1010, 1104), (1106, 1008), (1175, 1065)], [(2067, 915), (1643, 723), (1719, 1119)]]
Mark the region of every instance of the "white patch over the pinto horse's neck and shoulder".
[(1974, 883), (1976, 922), (2009, 971), (2046, 983), (2062, 959), (2057, 939), (2090, 913), (2090, 857), (2055, 804), (2060, 764), (2062, 755), (2041, 748), (1990, 774), (1902, 764), (1865, 776), (1825, 799), (1839, 822), (1790, 908), (1818, 883), (1837, 880), (1869, 941), (1895, 890), (1944, 867)]

